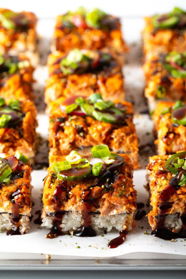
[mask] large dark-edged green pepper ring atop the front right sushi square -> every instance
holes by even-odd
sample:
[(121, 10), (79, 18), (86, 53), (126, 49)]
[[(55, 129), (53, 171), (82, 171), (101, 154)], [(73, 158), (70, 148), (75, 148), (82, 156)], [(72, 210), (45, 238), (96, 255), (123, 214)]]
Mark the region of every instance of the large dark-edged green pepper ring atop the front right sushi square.
[[(174, 154), (166, 162), (166, 168), (174, 174), (182, 171), (183, 168), (186, 167), (185, 157), (186, 157), (186, 151)], [(184, 159), (184, 163), (181, 159)], [(176, 165), (179, 165), (179, 167), (176, 167)]]

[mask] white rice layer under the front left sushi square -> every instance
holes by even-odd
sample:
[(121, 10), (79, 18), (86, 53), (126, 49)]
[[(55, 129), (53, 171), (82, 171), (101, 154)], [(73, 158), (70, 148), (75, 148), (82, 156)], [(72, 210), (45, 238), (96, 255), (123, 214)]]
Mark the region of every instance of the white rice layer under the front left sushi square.
[[(15, 229), (16, 226), (11, 223), (12, 214), (9, 213), (1, 213), (0, 214), (0, 232), (3, 230)], [(20, 226), (20, 233), (24, 234), (27, 229), (30, 229), (30, 220), (28, 216), (21, 215), (19, 220)]]

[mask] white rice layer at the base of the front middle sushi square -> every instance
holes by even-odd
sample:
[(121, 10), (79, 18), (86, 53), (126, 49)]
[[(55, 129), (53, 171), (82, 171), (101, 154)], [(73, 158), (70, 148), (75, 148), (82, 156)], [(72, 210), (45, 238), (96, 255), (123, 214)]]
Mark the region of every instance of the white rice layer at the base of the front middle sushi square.
[[(52, 217), (44, 217), (42, 219), (42, 227), (52, 228)], [(132, 213), (120, 213), (103, 217), (101, 214), (91, 214), (91, 227), (99, 234), (102, 230), (110, 232), (112, 228), (117, 230), (127, 229), (132, 230), (133, 214)], [(63, 232), (69, 232), (77, 230), (83, 225), (83, 218), (81, 212), (69, 211), (66, 212), (62, 218), (60, 227)]]

